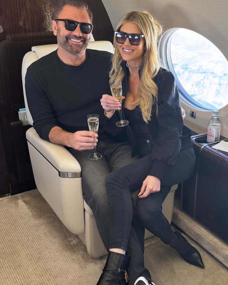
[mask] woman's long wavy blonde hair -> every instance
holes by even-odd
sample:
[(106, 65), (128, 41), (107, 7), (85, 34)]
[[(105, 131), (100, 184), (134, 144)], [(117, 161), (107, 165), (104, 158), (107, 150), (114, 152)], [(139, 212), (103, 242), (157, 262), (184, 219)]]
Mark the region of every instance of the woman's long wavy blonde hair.
[[(147, 11), (132, 11), (126, 13), (118, 23), (116, 31), (120, 31), (121, 26), (126, 22), (135, 23), (145, 37), (145, 54), (143, 56), (143, 65), (140, 76), (139, 95), (140, 99), (133, 104), (140, 106), (143, 120), (149, 122), (151, 120), (151, 112), (153, 104), (156, 104), (156, 114), (158, 111), (158, 87), (153, 78), (159, 71), (161, 66), (158, 54), (158, 39), (162, 34), (162, 26)], [(115, 52), (112, 56), (112, 68), (110, 70), (110, 81), (123, 80), (124, 71), (121, 67), (123, 59), (118, 49), (118, 43), (113, 40)], [(132, 105), (133, 105), (132, 104)]]

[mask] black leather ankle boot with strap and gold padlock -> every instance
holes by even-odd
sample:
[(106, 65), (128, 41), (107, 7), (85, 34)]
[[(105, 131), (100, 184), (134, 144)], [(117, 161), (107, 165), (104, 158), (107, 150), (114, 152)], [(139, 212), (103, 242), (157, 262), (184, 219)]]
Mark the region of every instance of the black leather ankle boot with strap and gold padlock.
[(129, 262), (129, 256), (110, 251), (96, 285), (126, 285), (129, 280), (126, 272)]

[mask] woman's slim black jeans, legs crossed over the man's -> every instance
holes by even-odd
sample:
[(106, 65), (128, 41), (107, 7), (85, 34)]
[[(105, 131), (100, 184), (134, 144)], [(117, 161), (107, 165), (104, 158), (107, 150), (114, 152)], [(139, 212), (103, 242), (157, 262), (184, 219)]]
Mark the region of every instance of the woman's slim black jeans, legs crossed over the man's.
[[(142, 187), (152, 164), (153, 159), (149, 155), (110, 173), (106, 177), (110, 204), (109, 248), (127, 250), (133, 215), (131, 193)], [(152, 193), (146, 198), (138, 199), (140, 222), (166, 244), (172, 242), (174, 233), (162, 213), (162, 203), (172, 185), (185, 181), (191, 175), (194, 165), (193, 148), (182, 149), (175, 165), (168, 169), (161, 180), (160, 191)]]

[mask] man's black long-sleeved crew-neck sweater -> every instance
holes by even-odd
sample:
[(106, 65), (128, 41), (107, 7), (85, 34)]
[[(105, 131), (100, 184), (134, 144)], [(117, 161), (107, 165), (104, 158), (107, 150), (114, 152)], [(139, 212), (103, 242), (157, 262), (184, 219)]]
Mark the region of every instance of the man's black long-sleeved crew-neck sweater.
[(50, 130), (59, 126), (68, 132), (88, 130), (87, 115), (99, 115), (99, 141), (112, 142), (104, 131), (104, 110), (100, 99), (110, 94), (111, 53), (86, 50), (80, 66), (64, 64), (57, 51), (28, 67), (26, 97), (33, 125), (39, 136), (49, 141)]

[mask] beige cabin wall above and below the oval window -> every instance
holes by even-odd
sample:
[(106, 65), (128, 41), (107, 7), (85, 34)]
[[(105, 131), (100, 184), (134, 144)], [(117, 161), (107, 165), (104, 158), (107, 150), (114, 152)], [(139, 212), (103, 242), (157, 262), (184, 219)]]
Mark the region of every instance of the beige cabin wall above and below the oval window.
[[(148, 10), (163, 26), (164, 32), (171, 28), (186, 28), (202, 34), (213, 42), (228, 60), (228, 1), (224, 0), (102, 0), (115, 30), (121, 17), (129, 11)], [(121, 9), (120, 9), (121, 7)], [(210, 60), (210, 59), (208, 59)], [(204, 133), (212, 116), (211, 111), (199, 111), (181, 103), (186, 112), (185, 123), (193, 131)], [(190, 111), (196, 111), (196, 119)], [(222, 123), (221, 135), (228, 138), (228, 105), (219, 110)]]

